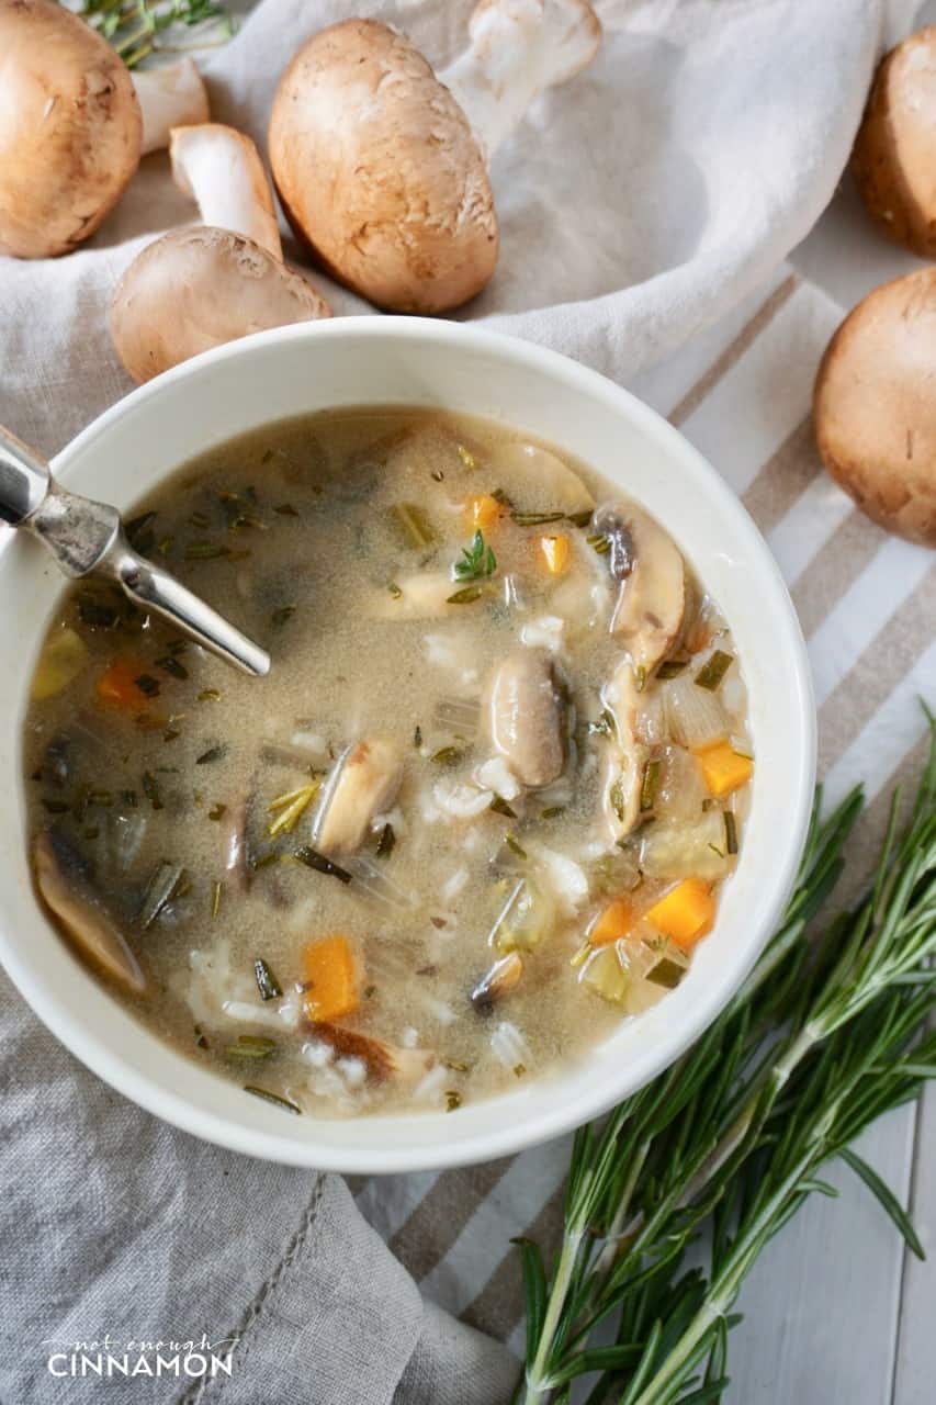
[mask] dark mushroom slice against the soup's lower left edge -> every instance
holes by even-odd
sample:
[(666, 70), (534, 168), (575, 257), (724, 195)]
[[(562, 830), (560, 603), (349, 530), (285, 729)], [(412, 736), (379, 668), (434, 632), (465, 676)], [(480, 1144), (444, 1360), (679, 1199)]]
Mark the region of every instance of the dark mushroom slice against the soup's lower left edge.
[(32, 865), (39, 896), (82, 954), (128, 991), (142, 992), (146, 979), (136, 957), (94, 891), (87, 865), (60, 830), (37, 836)]

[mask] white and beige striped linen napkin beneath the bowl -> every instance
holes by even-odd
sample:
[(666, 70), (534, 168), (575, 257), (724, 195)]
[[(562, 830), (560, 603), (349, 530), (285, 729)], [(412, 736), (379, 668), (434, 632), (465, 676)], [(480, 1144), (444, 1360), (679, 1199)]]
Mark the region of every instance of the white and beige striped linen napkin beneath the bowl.
[[(884, 532), (822, 471), (810, 403), (840, 319), (840, 308), (784, 267), (631, 389), (715, 465), (780, 563), (808, 642), (826, 801), (866, 785), (842, 882), (850, 898), (892, 787), (912, 783), (923, 760), (918, 700), (936, 701), (936, 559)], [(510, 1238), (548, 1245), (555, 1236), (568, 1152), (565, 1138), (481, 1166), (370, 1180), (354, 1187), (357, 1204), (426, 1297), (520, 1354)]]

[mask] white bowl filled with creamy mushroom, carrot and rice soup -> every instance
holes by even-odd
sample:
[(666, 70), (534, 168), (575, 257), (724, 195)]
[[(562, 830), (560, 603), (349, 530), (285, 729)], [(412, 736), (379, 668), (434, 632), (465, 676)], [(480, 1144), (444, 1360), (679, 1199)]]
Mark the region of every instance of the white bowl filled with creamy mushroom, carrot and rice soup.
[(0, 955), (89, 1068), (246, 1154), (405, 1170), (580, 1124), (724, 1009), (814, 708), (763, 541), (652, 410), (343, 319), (176, 368), (53, 468), (273, 659), (0, 548)]

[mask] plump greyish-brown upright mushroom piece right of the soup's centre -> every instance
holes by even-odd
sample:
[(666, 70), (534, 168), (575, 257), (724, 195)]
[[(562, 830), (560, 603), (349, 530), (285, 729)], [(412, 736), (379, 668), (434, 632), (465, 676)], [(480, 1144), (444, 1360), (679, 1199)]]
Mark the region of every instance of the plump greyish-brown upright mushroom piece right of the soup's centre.
[(482, 724), (523, 785), (550, 785), (565, 766), (566, 695), (547, 649), (519, 648), (485, 686)]

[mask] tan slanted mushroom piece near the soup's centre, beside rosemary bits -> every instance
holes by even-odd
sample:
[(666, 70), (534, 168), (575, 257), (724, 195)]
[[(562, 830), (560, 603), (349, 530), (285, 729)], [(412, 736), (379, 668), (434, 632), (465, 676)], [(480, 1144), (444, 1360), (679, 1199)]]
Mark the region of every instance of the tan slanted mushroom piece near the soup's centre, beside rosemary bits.
[(326, 781), (312, 840), (325, 854), (353, 854), (361, 847), (375, 815), (388, 811), (403, 778), (395, 742), (379, 736), (349, 746)]

